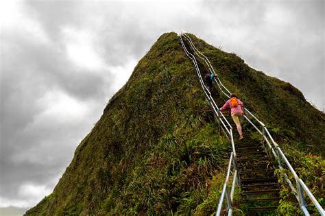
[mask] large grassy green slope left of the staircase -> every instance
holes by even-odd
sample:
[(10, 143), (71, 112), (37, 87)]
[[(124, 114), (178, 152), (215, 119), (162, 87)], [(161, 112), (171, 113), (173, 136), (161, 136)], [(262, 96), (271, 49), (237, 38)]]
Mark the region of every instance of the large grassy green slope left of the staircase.
[(179, 38), (163, 34), (27, 215), (191, 212), (228, 146), (210, 115)]

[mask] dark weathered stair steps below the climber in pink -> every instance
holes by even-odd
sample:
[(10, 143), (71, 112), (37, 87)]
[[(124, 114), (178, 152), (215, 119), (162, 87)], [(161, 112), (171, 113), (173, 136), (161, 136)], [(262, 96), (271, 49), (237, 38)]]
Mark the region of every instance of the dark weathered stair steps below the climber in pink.
[[(233, 122), (230, 115), (226, 115), (226, 119)], [(236, 127), (234, 123), (230, 125)], [(250, 213), (274, 213), (280, 200), (280, 187), (274, 173), (276, 168), (262, 143), (250, 139), (249, 133), (247, 128), (243, 128), (245, 139), (234, 143), (242, 205)]]

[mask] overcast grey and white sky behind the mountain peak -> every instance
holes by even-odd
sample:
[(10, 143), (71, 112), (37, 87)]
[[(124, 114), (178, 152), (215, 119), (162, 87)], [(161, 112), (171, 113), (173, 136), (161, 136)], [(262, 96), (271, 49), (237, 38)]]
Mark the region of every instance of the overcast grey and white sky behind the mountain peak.
[[(164, 32), (191, 32), (324, 110), (324, 1), (0, 1), (0, 207), (49, 195)], [(221, 77), (222, 79), (222, 77)]]

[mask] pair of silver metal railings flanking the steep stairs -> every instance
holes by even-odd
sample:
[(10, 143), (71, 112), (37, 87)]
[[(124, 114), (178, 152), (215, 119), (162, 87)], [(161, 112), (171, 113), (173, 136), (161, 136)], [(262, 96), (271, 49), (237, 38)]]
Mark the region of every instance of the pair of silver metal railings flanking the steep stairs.
[[(184, 51), (185, 51), (186, 55), (189, 56), (189, 58), (191, 58), (193, 60), (193, 62), (195, 62), (195, 68), (197, 70), (197, 75), (199, 75), (199, 77), (200, 77), (200, 83), (201, 83), (202, 87), (205, 89), (205, 93), (206, 93), (206, 91), (208, 91), (208, 89), (204, 85), (204, 82), (202, 80), (202, 76), (200, 75), (200, 70), (197, 67), (197, 62), (196, 62), (195, 56), (193, 56), (193, 54), (191, 54), (191, 53), (189, 53), (189, 51), (187, 51), (187, 49), (186, 49), (186, 47), (184, 45), (184, 42), (182, 40), (182, 36), (184, 36), (184, 38), (186, 38), (186, 40), (189, 41), (189, 45), (191, 46), (191, 49), (194, 51), (194, 53), (196, 54), (196, 56), (198, 56), (199, 58), (201, 58), (203, 60), (204, 64), (205, 64), (205, 66), (208, 67), (208, 70), (215, 75), (214, 81), (215, 81), (215, 84), (217, 84), (217, 86), (219, 87), (221, 93), (224, 93), (224, 95), (226, 95), (226, 97), (230, 97), (230, 91), (228, 91), (228, 89), (226, 88), (226, 86), (224, 86), (224, 84), (221, 83), (221, 80), (219, 80), (219, 77), (217, 77), (217, 74), (215, 73), (215, 70), (213, 69), (212, 65), (210, 64), (210, 61), (208, 60), (208, 58), (206, 58), (206, 56), (204, 56), (204, 54), (202, 54), (195, 47), (195, 45), (193, 44), (193, 42), (192, 42), (192, 40), (191, 40), (191, 38), (189, 36), (187, 36), (184, 33), (181, 33), (180, 34), (180, 40), (181, 40), (182, 46), (184, 48)], [(215, 105), (213, 98), (209, 94), (209, 103), (210, 103), (210, 101), (213, 101), (213, 104)], [(215, 105), (215, 107), (217, 107), (217, 105)], [(213, 110), (215, 110), (215, 109), (213, 109)], [(295, 193), (296, 198), (297, 198), (297, 200), (298, 200), (298, 202), (300, 204), (300, 208), (302, 209), (302, 212), (304, 213), (304, 215), (310, 215), (309, 214), (309, 211), (307, 210), (306, 201), (304, 200), (304, 193), (307, 195), (307, 197), (309, 197), (309, 199), (314, 204), (315, 208), (320, 213), (320, 215), (325, 215), (324, 209), (317, 202), (317, 200), (315, 199), (315, 197), (313, 196), (313, 194), (311, 193), (311, 191), (309, 191), (308, 187), (306, 187), (306, 184), (304, 184), (304, 182), (302, 181), (302, 179), (300, 179), (298, 177), (296, 171), (294, 171), (293, 167), (289, 163), (289, 160), (287, 160), (287, 157), (282, 152), (282, 150), (280, 149), (279, 145), (274, 141), (273, 137), (271, 136), (271, 134), (267, 130), (265, 124), (262, 121), (258, 120), (252, 114), (252, 112), (250, 112), (250, 110), (248, 110), (247, 108), (244, 108), (244, 110), (245, 110), (245, 113), (248, 114), (250, 117), (248, 117), (248, 115), (243, 115), (243, 117), (256, 129), (256, 131), (259, 134), (261, 134), (261, 136), (262, 136), (262, 142), (263, 142), (264, 147), (267, 148), (267, 152), (268, 152), (269, 156), (271, 158), (273, 158), (278, 163), (278, 167), (281, 170), (280, 175), (282, 175), (283, 178), (285, 178), (285, 181), (289, 184), (289, 187)], [(215, 112), (216, 112), (216, 110), (215, 110)], [(217, 108), (216, 114), (217, 114), (217, 117), (218, 118), (221, 115), (221, 117), (224, 118), (225, 122), (228, 123), (228, 121), (226, 120), (226, 118), (224, 117), (224, 115), (222, 115), (222, 113), (219, 112), (219, 108)], [(254, 121), (253, 119), (258, 123), (258, 125), (256, 125), (255, 123), (253, 123), (253, 121)], [(221, 122), (221, 123), (224, 126), (224, 128), (227, 128), (226, 125), (224, 124), (224, 122)], [(228, 123), (228, 125), (230, 126), (229, 123)], [(261, 130), (258, 127), (261, 127)], [(228, 130), (227, 130), (227, 132), (228, 132)], [(234, 144), (233, 144), (233, 137), (232, 137), (232, 128), (231, 128), (231, 126), (230, 126), (230, 132), (228, 132), (228, 133), (230, 134), (230, 138), (231, 138), (231, 145), (232, 145), (233, 156), (232, 155), (230, 156), (230, 162), (229, 162), (229, 165), (228, 165), (228, 172), (227, 172), (227, 177), (226, 177), (225, 185), (228, 185), (228, 179), (229, 179), (229, 174), (228, 173), (230, 172), (230, 167), (231, 167), (232, 161), (234, 163), (234, 172), (236, 173), (234, 176), (237, 176), (237, 177), (234, 177), (234, 179), (238, 178), (238, 180), (239, 180), (239, 175), (238, 175), (238, 170), (237, 170), (237, 157), (236, 157), (236, 151), (235, 151)], [(282, 163), (282, 161), (284, 161), (285, 163)], [(283, 165), (286, 165), (287, 168), (289, 169), (289, 171), (291, 172), (291, 174), (293, 175), (293, 178), (296, 181), (296, 186), (291, 182), (291, 180), (289, 180), (289, 177), (283, 171), (283, 170), (285, 170), (285, 168), (283, 167)], [(225, 186), (225, 185), (224, 185), (224, 189), (222, 190), (222, 193), (221, 193), (221, 197), (220, 197), (220, 201), (219, 201), (219, 204), (218, 204), (218, 208), (217, 208), (218, 210), (217, 210), (217, 214), (216, 215), (219, 215), (219, 213), (221, 211), (221, 206), (222, 206), (222, 203), (224, 202), (224, 195), (225, 195), (225, 193), (226, 193), (227, 203), (228, 203), (228, 215), (231, 215), (232, 214), (232, 199), (230, 199), (230, 197), (228, 195), (228, 192), (227, 192), (228, 191), (227, 190), (228, 186)], [(240, 187), (240, 185), (239, 185), (239, 187)], [(232, 194), (233, 194), (233, 190), (234, 190), (234, 183), (232, 185)]]

